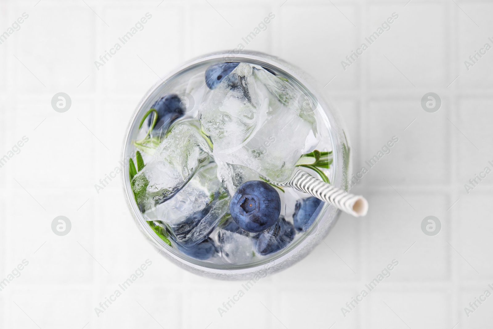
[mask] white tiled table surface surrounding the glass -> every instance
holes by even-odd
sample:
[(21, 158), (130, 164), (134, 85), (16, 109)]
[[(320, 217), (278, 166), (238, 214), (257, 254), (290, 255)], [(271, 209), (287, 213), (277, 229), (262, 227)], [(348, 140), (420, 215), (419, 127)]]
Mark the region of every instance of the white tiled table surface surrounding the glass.
[[(406, 1), (2, 0), (0, 33), (29, 18), (0, 44), (0, 157), (29, 142), (0, 168), (0, 280), (29, 265), (0, 291), (0, 328), (490, 328), (493, 297), (469, 317), (464, 307), (493, 292), (493, 174), (469, 194), (464, 184), (492, 168), (493, 50), (469, 71), (464, 61), (493, 45), (493, 3)], [(143, 30), (97, 70), (147, 12)], [(236, 48), (270, 12), (246, 50), (325, 86), (346, 120), (354, 170), (392, 136), (399, 142), (353, 189), (368, 198), (366, 218), (343, 215), (311, 255), (221, 317), (243, 282), (156, 255), (121, 180), (100, 193), (94, 184), (119, 166), (130, 115), (157, 75)], [(393, 12), (390, 30), (344, 71), (341, 61)], [(58, 92), (72, 100), (65, 113), (51, 108)], [(428, 92), (442, 99), (436, 113), (421, 108)], [(59, 215), (72, 223), (64, 237), (50, 227)], [(421, 231), (429, 215), (442, 223), (432, 237)], [(94, 308), (146, 259), (144, 276), (98, 317)], [(344, 317), (341, 307), (392, 259), (390, 277)]]

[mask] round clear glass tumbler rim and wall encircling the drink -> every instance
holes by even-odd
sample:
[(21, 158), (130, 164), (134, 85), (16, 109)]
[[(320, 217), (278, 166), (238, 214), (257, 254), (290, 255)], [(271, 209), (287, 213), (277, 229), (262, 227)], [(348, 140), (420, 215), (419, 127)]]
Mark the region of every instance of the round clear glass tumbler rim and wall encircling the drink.
[[(329, 180), (333, 185), (339, 188), (348, 188), (348, 180), (351, 175), (351, 150), (347, 140), (347, 132), (344, 129), (342, 118), (337, 109), (331, 103), (324, 100), (321, 92), (317, 89), (315, 81), (302, 70), (286, 63), (280, 58), (260, 52), (237, 54), (232, 51), (224, 51), (200, 56), (157, 81), (157, 83), (143, 96), (130, 120), (123, 146), (123, 163), (128, 164), (129, 159), (136, 154), (136, 146), (133, 144), (133, 141), (135, 141), (138, 138), (139, 133), (141, 133), (139, 125), (142, 117), (150, 109), (152, 104), (159, 99), (161, 95), (165, 94), (167, 91), (171, 91), (173, 86), (177, 83), (183, 84), (186, 83), (187, 80), (192, 79), (197, 68), (208, 67), (211, 64), (219, 62), (246, 62), (261, 66), (265, 69), (271, 69), (272, 71), (280, 73), (284, 78), (287, 78), (291, 84), (294, 84), (297, 88), (301, 89), (304, 94), (310, 98), (310, 101), (315, 104), (316, 110), (319, 111), (319, 117), (321, 117), (323, 121), (319, 124), (323, 125), (323, 129), (327, 129), (328, 131), (328, 135), (326, 136), (328, 136), (328, 139), (330, 140), (324, 142), (326, 142), (327, 145), (330, 145), (333, 151), (333, 163), (331, 165), (331, 177), (329, 177)], [(190, 94), (179, 96), (188, 103), (188, 106), (193, 107), (194, 104), (190, 103), (197, 102)], [(195, 104), (195, 106), (199, 105)], [(325, 203), (318, 214), (317, 219), (310, 228), (303, 232), (299, 238), (295, 239), (282, 251), (275, 253), (272, 256), (262, 257), (251, 263), (241, 265), (226, 264), (223, 262), (211, 263), (186, 256), (178, 249), (172, 248), (166, 244), (165, 241), (163, 241), (147, 224), (146, 219), (141, 213), (134, 199), (128, 168), (124, 170), (122, 176), (130, 212), (141, 232), (151, 244), (160, 250), (162, 255), (171, 259), (178, 266), (181, 266), (190, 272), (217, 279), (234, 280), (265, 277), (267, 274), (287, 268), (308, 255), (308, 253), (322, 241), (333, 227), (340, 214), (340, 211), (333, 205)]]

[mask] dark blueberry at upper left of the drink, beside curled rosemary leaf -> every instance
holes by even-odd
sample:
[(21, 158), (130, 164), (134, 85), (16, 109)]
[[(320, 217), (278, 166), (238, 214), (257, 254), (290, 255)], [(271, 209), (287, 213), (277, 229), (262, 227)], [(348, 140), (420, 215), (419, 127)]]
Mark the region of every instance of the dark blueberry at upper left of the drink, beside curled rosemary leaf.
[[(163, 126), (168, 127), (177, 118), (183, 116), (185, 110), (181, 105), (181, 99), (176, 94), (168, 94), (158, 99), (151, 109), (157, 110), (157, 121), (154, 130), (159, 130)], [(150, 127), (152, 120), (156, 114), (152, 113), (148, 116), (147, 125)]]

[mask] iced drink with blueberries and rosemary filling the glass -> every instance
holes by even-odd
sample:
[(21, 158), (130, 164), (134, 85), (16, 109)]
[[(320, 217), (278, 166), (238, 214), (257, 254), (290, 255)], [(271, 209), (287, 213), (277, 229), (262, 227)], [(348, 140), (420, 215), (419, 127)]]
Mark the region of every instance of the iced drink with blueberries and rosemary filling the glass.
[(324, 214), (318, 235), (328, 230), (336, 210), (282, 183), (301, 169), (344, 187), (349, 147), (341, 133), (334, 138), (314, 94), (272, 61), (195, 61), (138, 108), (124, 151), (131, 208), (185, 266), (249, 273), (302, 249)]

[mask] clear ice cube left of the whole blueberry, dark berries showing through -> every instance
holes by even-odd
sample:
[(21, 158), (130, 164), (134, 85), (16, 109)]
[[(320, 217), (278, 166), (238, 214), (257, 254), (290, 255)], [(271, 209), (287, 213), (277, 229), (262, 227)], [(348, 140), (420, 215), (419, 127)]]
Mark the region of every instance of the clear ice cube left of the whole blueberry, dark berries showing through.
[(216, 171), (214, 162), (202, 167), (175, 195), (144, 215), (148, 220), (162, 221), (181, 246), (197, 245), (211, 234), (228, 211), (227, 192)]

